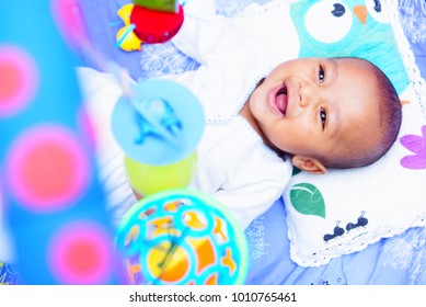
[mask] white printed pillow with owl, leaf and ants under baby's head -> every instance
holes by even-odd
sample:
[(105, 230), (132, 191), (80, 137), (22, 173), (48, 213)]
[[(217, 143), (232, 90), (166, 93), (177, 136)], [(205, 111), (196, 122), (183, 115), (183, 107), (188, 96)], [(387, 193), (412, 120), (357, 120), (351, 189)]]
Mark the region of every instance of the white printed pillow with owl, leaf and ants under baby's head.
[(299, 172), (284, 193), (291, 259), (302, 266), (426, 225), (426, 83), (399, 24), (398, 2), (304, 0), (291, 4), (299, 56), (358, 56), (395, 86), (400, 135), (378, 162), (323, 175)]

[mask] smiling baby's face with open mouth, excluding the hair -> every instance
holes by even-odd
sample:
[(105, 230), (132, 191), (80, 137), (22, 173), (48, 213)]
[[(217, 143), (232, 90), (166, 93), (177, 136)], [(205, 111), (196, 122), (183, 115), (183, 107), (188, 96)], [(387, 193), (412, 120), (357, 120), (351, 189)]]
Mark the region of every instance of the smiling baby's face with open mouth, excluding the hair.
[(342, 145), (376, 141), (377, 87), (373, 72), (359, 59), (295, 59), (277, 66), (249, 105), (270, 144), (321, 160)]

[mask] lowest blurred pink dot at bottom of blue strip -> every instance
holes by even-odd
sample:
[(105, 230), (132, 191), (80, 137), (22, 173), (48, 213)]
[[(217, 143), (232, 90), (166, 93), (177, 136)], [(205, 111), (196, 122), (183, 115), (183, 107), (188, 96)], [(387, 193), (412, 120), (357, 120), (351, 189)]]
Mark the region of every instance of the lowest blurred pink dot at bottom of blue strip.
[(48, 245), (50, 273), (61, 284), (106, 284), (114, 271), (112, 241), (95, 223), (64, 226)]

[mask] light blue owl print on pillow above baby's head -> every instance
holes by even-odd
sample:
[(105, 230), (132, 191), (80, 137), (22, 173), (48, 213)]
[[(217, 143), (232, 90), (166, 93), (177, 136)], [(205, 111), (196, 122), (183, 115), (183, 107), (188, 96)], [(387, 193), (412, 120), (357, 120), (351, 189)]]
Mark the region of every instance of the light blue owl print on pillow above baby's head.
[(399, 94), (410, 83), (383, 0), (304, 0), (291, 7), (299, 57), (354, 56), (376, 64)]

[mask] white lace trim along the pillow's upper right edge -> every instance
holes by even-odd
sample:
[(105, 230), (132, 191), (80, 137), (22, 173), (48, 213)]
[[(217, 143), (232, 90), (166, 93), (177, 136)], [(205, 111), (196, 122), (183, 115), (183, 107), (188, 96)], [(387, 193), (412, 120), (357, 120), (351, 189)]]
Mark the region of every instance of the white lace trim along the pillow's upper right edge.
[(404, 62), (405, 70), (408, 75), (411, 83), (413, 84), (413, 89), (417, 95), (423, 115), (426, 118), (426, 81), (421, 76), (421, 71), (417, 67), (417, 64), (415, 62), (413, 50), (402, 29), (401, 16), (398, 7), (399, 2), (398, 0), (387, 0), (382, 4), (387, 7), (387, 11), (390, 14), (391, 26), (396, 39), (401, 58)]

